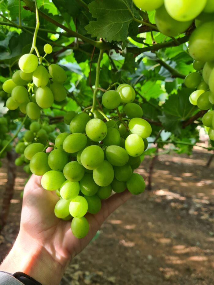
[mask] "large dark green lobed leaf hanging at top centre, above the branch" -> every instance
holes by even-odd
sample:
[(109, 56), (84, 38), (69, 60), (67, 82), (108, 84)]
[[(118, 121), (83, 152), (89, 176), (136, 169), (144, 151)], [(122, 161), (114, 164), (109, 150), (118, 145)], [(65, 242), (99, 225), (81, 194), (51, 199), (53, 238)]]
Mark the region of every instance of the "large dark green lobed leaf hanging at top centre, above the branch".
[[(122, 41), (124, 48), (136, 10), (132, 0), (95, 0), (89, 5), (90, 12), (96, 21), (90, 21), (85, 27), (92, 37), (106, 38), (108, 42)], [(136, 26), (130, 27), (131, 34), (136, 32)]]

